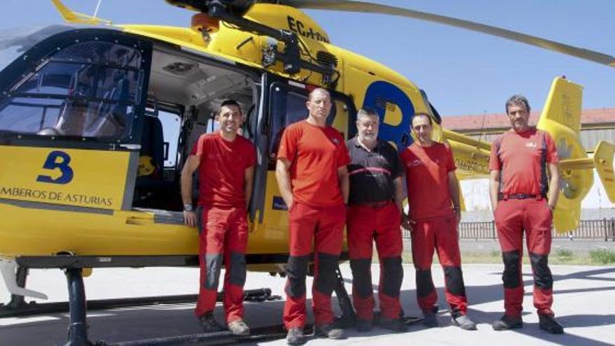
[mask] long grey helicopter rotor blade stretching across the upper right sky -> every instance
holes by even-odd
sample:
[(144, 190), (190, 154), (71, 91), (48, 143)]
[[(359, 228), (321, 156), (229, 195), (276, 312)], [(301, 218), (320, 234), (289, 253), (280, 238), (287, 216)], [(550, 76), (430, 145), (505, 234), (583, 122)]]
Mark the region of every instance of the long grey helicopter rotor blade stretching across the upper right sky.
[(553, 50), (555, 52), (560, 52), (565, 55), (572, 55), (573, 57), (589, 60), (591, 62), (597, 62), (598, 64), (615, 67), (615, 57), (606, 55), (601, 52), (586, 50), (584, 48), (578, 48), (572, 45), (566, 45), (563, 43), (547, 40), (536, 36), (521, 34), (520, 32), (512, 30), (491, 27), (489, 25), (470, 22), (468, 20), (460, 20), (453, 17), (446, 17), (444, 15), (435, 15), (433, 13), (409, 10), (407, 8), (399, 8), (394, 6), (381, 5), (378, 3), (352, 0), (278, 0), (277, 3), (284, 3), (285, 5), (294, 6), (296, 8), (306, 8), (312, 10), (336, 10), (347, 12), (380, 13), (385, 15), (396, 15), (399, 17), (414, 18), (417, 20), (435, 22), (449, 25), (451, 27), (458, 27), (471, 31), (482, 32), (483, 34), (488, 34), (491, 36), (507, 38), (512, 41), (526, 43), (528, 45), (535, 45), (537, 47), (544, 48), (547, 50)]

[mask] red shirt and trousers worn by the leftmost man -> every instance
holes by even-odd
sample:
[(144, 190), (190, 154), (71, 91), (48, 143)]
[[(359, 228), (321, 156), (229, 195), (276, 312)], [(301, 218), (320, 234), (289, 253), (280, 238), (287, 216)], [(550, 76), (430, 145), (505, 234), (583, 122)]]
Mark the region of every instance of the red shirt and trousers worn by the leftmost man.
[(228, 142), (215, 133), (198, 138), (191, 154), (201, 157), (197, 208), (201, 284), (194, 314), (200, 317), (215, 308), (224, 261), (224, 314), (230, 323), (243, 317), (247, 245), (245, 170), (254, 166), (256, 153), (254, 145), (241, 136)]

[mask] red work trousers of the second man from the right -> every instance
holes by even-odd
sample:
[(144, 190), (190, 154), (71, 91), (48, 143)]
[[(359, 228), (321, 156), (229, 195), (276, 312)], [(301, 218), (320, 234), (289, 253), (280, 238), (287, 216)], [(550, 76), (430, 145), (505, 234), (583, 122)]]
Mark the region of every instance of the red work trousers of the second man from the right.
[(456, 217), (417, 221), (412, 232), (412, 259), (417, 278), (417, 301), (425, 312), (433, 311), (437, 292), (431, 277), (434, 249), (444, 270), (444, 294), (451, 307), (451, 315), (465, 315), (468, 300), (461, 272), (461, 254)]

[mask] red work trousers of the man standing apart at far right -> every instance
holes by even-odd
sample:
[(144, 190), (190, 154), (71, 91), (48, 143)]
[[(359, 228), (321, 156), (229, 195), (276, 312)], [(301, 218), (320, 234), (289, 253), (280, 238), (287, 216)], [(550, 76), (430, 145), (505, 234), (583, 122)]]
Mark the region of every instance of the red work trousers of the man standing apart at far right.
[(519, 317), (523, 310), (523, 231), (534, 276), (534, 306), (539, 314), (553, 315), (553, 276), (549, 269), (553, 215), (547, 199), (502, 200), (494, 216), (504, 261), (505, 315)]

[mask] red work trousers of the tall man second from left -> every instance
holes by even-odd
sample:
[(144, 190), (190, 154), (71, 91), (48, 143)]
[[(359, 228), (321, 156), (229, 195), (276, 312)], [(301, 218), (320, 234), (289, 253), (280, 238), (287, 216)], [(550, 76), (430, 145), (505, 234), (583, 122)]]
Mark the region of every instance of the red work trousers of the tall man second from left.
[(287, 329), (305, 326), (305, 277), (314, 243), (314, 282), (312, 310), (316, 324), (331, 324), (331, 294), (337, 277), (346, 206), (312, 207), (295, 202), (289, 210), (289, 261), (287, 294), (284, 303), (284, 326)]

